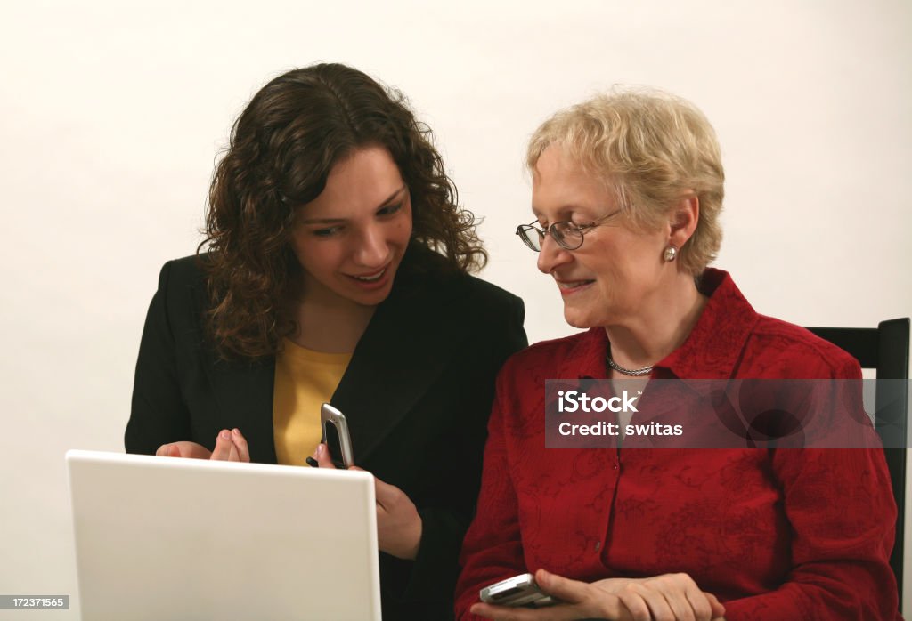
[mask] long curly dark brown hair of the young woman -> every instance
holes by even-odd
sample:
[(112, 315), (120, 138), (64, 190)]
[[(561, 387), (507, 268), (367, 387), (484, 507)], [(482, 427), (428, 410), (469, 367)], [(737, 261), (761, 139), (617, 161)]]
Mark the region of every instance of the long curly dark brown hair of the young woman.
[(206, 320), (223, 359), (274, 355), (295, 331), (290, 305), (302, 282), (290, 243), (295, 209), (316, 199), (333, 166), (358, 148), (386, 148), (409, 187), (410, 254), (430, 249), (456, 271), (484, 266), (474, 216), (458, 206), (432, 140), (405, 96), (349, 66), (294, 69), (254, 95), (212, 176), (197, 249), (209, 250)]

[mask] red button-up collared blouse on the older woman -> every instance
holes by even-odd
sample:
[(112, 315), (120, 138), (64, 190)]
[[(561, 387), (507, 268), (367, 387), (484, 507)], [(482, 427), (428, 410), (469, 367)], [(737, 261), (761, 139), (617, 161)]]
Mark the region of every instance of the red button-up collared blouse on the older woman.
[[(707, 270), (700, 288), (700, 321), (653, 378), (861, 377), (845, 351), (757, 314), (726, 272)], [(545, 449), (544, 381), (606, 377), (606, 347), (594, 328), (500, 373), (457, 618), (475, 618), (483, 586), (539, 567), (586, 582), (685, 572), (728, 621), (902, 618), (879, 448)]]

